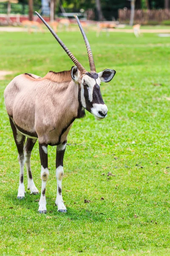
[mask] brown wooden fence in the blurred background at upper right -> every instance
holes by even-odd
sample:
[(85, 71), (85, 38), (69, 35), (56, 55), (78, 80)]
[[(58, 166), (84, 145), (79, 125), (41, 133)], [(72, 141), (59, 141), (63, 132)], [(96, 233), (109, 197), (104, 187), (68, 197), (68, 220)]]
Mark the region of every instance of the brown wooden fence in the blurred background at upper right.
[[(130, 10), (119, 9), (119, 22), (128, 23), (129, 20), (130, 20)], [(170, 20), (170, 9), (135, 10), (134, 23), (160, 24), (164, 20)]]

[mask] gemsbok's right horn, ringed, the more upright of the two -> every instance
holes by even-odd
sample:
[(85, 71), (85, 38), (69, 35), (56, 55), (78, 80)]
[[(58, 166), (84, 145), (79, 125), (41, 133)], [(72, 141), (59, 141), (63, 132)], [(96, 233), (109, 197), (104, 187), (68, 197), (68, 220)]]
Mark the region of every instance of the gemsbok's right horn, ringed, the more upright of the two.
[(83, 28), (82, 28), (82, 25), (81, 25), (81, 23), (80, 23), (80, 21), (79, 21), (79, 18), (78, 18), (76, 15), (74, 15), (74, 17), (75, 17), (76, 20), (77, 20), (77, 23), (78, 23), (78, 25), (79, 25), (79, 28), (80, 28), (80, 30), (81, 30), (81, 32), (82, 32), (82, 36), (83, 36), (84, 41), (85, 41), (85, 45), (86, 45), (86, 48), (87, 48), (87, 51), (88, 51), (88, 60), (89, 60), (91, 72), (96, 72), (96, 67), (95, 67), (95, 64), (94, 64), (94, 58), (93, 58), (93, 54), (92, 54), (92, 51), (91, 51), (90, 44), (89, 44), (89, 42), (88, 42), (88, 38), (87, 38), (87, 36), (85, 35), (85, 32), (84, 32), (84, 30), (83, 30)]

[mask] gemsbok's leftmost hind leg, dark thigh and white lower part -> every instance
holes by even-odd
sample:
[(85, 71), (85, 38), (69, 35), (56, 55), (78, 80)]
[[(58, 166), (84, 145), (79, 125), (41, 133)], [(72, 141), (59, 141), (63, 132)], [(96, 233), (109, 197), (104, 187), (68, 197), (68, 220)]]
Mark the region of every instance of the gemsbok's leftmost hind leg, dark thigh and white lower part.
[(17, 198), (23, 199), (23, 198), (25, 198), (25, 187), (24, 187), (24, 163), (25, 163), (25, 160), (24, 160), (23, 147), (24, 147), (24, 141), (25, 141), (26, 137), (17, 130), (16, 126), (14, 125), (13, 120), (11, 118), (9, 118), (9, 120), (10, 120), (14, 140), (15, 140), (17, 150), (18, 150), (18, 162), (20, 164), (20, 184), (18, 187)]

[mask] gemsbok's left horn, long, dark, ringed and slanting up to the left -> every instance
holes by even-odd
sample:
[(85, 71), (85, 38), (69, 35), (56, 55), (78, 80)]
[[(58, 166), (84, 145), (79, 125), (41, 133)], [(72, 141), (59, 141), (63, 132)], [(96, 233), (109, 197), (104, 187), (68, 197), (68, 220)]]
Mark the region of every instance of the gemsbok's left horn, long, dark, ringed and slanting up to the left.
[(61, 41), (61, 39), (58, 37), (58, 35), (56, 35), (56, 33), (53, 31), (53, 29), (51, 29), (51, 27), (48, 25), (48, 23), (46, 23), (46, 21), (41, 17), (41, 15), (38, 12), (35, 12), (37, 14), (37, 16), (40, 18), (40, 20), (42, 20), (42, 22), (45, 24), (45, 26), (50, 30), (51, 34), (54, 36), (54, 38), (59, 42), (59, 44), (61, 45), (61, 47), (65, 50), (65, 52), (68, 54), (68, 56), (71, 58), (71, 60), (74, 62), (74, 64), (77, 66), (77, 68), (79, 69), (79, 71), (82, 74), (85, 74), (87, 71), (85, 70), (85, 68), (82, 66), (82, 64), (79, 63), (79, 61), (77, 60), (77, 58), (74, 57), (74, 55), (69, 51), (69, 49), (65, 46), (65, 44)]

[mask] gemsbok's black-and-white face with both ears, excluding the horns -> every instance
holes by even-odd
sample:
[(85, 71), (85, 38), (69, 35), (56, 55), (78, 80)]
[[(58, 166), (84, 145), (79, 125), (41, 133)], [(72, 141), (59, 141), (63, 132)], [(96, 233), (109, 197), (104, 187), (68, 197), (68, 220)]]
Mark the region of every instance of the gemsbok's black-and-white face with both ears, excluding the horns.
[(80, 75), (77, 67), (72, 67), (71, 77), (80, 85), (80, 101), (82, 107), (94, 114), (97, 120), (107, 116), (108, 108), (105, 105), (100, 92), (100, 82), (109, 82), (115, 75), (115, 70), (106, 69), (100, 73), (87, 72)]

